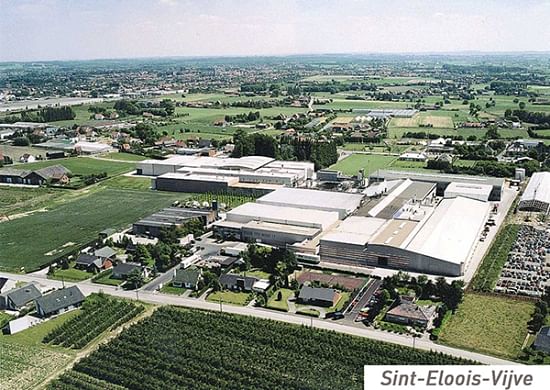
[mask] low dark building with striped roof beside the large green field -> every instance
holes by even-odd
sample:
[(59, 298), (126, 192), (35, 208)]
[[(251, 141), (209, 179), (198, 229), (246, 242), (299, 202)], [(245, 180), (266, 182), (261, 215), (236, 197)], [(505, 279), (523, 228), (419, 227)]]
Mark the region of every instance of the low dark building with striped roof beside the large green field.
[(198, 219), (207, 225), (214, 222), (217, 215), (217, 211), (211, 209), (168, 207), (135, 222), (132, 231), (134, 234), (158, 237), (163, 228), (179, 227), (191, 219)]

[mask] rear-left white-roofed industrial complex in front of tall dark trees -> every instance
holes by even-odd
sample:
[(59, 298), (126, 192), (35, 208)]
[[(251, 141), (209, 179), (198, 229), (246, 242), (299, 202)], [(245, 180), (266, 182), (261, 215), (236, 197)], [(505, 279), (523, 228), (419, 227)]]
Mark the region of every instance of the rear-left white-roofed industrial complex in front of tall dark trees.
[(264, 156), (241, 158), (175, 156), (138, 163), (138, 175), (153, 176), (153, 188), (167, 191), (272, 191), (305, 185), (315, 175), (314, 164), (276, 161)]

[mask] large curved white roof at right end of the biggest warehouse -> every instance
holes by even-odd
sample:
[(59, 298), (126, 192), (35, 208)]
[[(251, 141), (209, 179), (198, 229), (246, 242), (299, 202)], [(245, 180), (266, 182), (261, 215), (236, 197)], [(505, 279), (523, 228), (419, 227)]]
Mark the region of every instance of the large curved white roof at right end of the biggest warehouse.
[(461, 196), (443, 199), (407, 250), (456, 264), (465, 263), (490, 207), (489, 203)]

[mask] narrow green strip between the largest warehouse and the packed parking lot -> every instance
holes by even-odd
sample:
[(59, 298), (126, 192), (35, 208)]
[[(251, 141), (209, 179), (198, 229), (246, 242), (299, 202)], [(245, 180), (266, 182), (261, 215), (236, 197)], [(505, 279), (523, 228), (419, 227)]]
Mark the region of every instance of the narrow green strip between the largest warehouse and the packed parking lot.
[(493, 291), (508, 254), (517, 240), (519, 228), (520, 225), (506, 225), (498, 233), (472, 280), (472, 289)]

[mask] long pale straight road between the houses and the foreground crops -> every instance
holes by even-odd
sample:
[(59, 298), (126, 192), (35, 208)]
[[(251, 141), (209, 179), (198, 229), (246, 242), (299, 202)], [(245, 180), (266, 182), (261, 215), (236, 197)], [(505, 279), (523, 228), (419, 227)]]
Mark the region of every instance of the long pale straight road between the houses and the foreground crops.
[[(5, 277), (17, 281), (23, 282), (37, 282), (42, 287), (45, 288), (61, 288), (62, 282), (57, 280), (47, 279), (45, 275), (34, 274), (34, 275), (19, 275), (19, 274), (10, 274), (5, 272), (0, 272), (0, 277)], [(290, 313), (281, 313), (272, 310), (267, 310), (258, 307), (250, 306), (232, 306), (224, 304), (220, 306), (219, 303), (208, 302), (200, 299), (187, 298), (176, 295), (167, 295), (160, 294), (158, 292), (136, 290), (136, 291), (126, 291), (118, 287), (93, 284), (90, 281), (79, 282), (79, 283), (70, 283), (65, 282), (65, 286), (78, 285), (80, 290), (85, 295), (90, 295), (92, 293), (104, 292), (109, 295), (116, 297), (127, 298), (127, 299), (139, 299), (140, 301), (158, 304), (158, 305), (175, 305), (175, 306), (185, 306), (195, 309), (211, 310), (211, 311), (222, 311), (227, 313), (253, 316), (257, 318), (270, 319), (275, 321), (281, 321), (297, 325), (312, 326), (318, 329), (332, 330), (339, 333), (350, 334), (359, 337), (366, 337), (373, 340), (384, 341), (393, 344), (404, 345), (408, 347), (413, 346), (413, 339), (409, 336), (398, 335), (394, 333), (388, 333), (383, 331), (378, 331), (361, 326), (352, 326), (345, 325), (338, 321), (327, 321), (314, 319), (313, 317), (304, 317), (296, 314)], [(483, 364), (490, 365), (503, 365), (503, 364), (516, 364), (507, 360), (499, 359), (492, 356), (482, 355), (475, 352), (463, 351), (457, 348), (451, 348), (444, 345), (436, 344), (429, 339), (416, 339), (415, 346), (418, 349), (427, 350), (427, 351), (437, 351), (446, 353), (449, 355), (461, 357), (464, 359), (475, 360)]]

